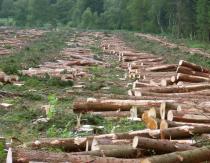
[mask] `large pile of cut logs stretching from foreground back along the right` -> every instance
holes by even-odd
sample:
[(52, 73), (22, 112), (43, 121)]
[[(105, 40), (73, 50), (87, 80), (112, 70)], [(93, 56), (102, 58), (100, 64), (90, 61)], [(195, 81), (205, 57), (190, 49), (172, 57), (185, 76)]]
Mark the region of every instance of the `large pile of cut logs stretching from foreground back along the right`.
[[(124, 98), (77, 99), (73, 111), (140, 119), (147, 129), (80, 138), (39, 139), (22, 148), (13, 148), (13, 160), (22, 163), (210, 161), (210, 146), (202, 146), (194, 140), (195, 136), (202, 141), (210, 140), (210, 70), (182, 60), (179, 64), (165, 64), (163, 58), (139, 53), (113, 36), (105, 37), (101, 48), (119, 58), (126, 72), (125, 80), (133, 80), (133, 87)], [(72, 49), (66, 51), (72, 52)], [(74, 51), (74, 55), (67, 52), (66, 58), (79, 61), (86, 58), (103, 65), (87, 55), (87, 51), (81, 55), (75, 53), (79, 51)], [(62, 149), (63, 153), (46, 152), (43, 150), (46, 148)]]

